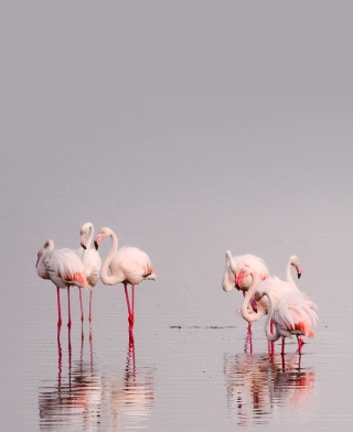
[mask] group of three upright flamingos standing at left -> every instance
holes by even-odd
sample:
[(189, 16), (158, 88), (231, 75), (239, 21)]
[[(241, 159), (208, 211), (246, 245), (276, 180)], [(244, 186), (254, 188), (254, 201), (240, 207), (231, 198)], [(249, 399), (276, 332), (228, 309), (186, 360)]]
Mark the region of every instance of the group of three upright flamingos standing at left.
[[(101, 258), (97, 250), (89, 248), (94, 237), (93, 224), (84, 224), (81, 227), (79, 234), (81, 249), (54, 249), (54, 241), (47, 240), (38, 252), (35, 267), (39, 277), (50, 279), (56, 287), (58, 332), (62, 325), (60, 289), (67, 289), (68, 328), (72, 325), (69, 288), (73, 285), (78, 287), (82, 322), (84, 321), (82, 289), (90, 290), (89, 322), (92, 322), (92, 289), (99, 279), (99, 272), (101, 282), (107, 285), (124, 283), (128, 307), (129, 332), (131, 332), (135, 323), (135, 285), (145, 279), (156, 279), (149, 256), (140, 249), (132, 247), (122, 247), (118, 250), (118, 238), (116, 234), (110, 228), (105, 227), (101, 228), (95, 238), (95, 248), (98, 249), (98, 245), (104, 238), (111, 237), (111, 250), (101, 266)], [(107, 272), (108, 268), (110, 276)], [(128, 284), (132, 285), (131, 302), (128, 293)]]

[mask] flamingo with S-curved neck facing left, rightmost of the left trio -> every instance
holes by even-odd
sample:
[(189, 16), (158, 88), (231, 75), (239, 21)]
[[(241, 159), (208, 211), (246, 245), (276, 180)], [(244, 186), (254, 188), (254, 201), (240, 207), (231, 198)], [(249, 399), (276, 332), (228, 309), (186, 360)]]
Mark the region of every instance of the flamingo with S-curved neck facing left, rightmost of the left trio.
[[(145, 279), (154, 280), (156, 274), (149, 256), (142, 250), (133, 247), (122, 247), (118, 250), (118, 238), (113, 229), (104, 227), (95, 239), (95, 247), (98, 249), (99, 242), (110, 236), (111, 249), (100, 270), (101, 282), (106, 285), (115, 285), (122, 282), (125, 287), (125, 296), (128, 307), (129, 331), (135, 323), (135, 285)], [(110, 276), (108, 276), (108, 267)], [(129, 293), (127, 285), (132, 285), (132, 307), (130, 306)]]

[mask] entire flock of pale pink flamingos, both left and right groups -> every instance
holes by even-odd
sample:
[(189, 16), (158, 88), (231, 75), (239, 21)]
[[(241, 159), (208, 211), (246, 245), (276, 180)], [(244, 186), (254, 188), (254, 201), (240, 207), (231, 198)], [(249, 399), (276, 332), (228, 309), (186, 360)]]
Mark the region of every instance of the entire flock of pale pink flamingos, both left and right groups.
[[(60, 290), (67, 290), (68, 322), (71, 328), (71, 287), (79, 291), (81, 320), (84, 322), (82, 303), (82, 289), (89, 290), (89, 315), (92, 322), (93, 288), (100, 280), (106, 285), (124, 284), (128, 311), (128, 330), (132, 332), (135, 324), (135, 285), (143, 280), (154, 280), (149, 256), (136, 247), (124, 246), (118, 249), (118, 237), (108, 227), (100, 229), (94, 240), (94, 226), (86, 223), (81, 227), (81, 248), (54, 249), (54, 241), (46, 240), (38, 252), (36, 271), (42, 279), (51, 280), (56, 287), (57, 299), (57, 328), (62, 325)], [(98, 253), (99, 244), (107, 237), (111, 239), (111, 248), (101, 264)], [(222, 281), (223, 290), (228, 292), (234, 288), (243, 292), (244, 299), (238, 314), (248, 322), (248, 335), (252, 334), (252, 323), (266, 315), (265, 335), (269, 347), (282, 337), (281, 354), (285, 354), (285, 339), (296, 336), (298, 353), (304, 342), (302, 336), (313, 337), (313, 327), (317, 324), (317, 305), (299, 291), (290, 272), (291, 267), (297, 270), (298, 279), (301, 277), (301, 266), (296, 256), (290, 256), (287, 261), (287, 280), (270, 276), (266, 263), (259, 257), (243, 255), (233, 257), (226, 251), (226, 267)], [(128, 285), (131, 285), (131, 296)], [(130, 335), (132, 338), (132, 333)], [(270, 349), (270, 348), (269, 348)], [(272, 348), (271, 348), (272, 349)]]

